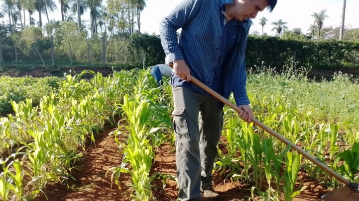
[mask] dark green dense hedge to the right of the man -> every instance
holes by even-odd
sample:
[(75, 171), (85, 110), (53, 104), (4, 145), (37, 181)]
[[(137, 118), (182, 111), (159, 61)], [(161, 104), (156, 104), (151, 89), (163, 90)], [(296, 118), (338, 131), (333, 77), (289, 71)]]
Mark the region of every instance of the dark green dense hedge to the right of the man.
[[(264, 62), (270, 67), (283, 67), (294, 61), (299, 67), (313, 69), (358, 67), (359, 42), (295, 40), (290, 37), (249, 36), (246, 66)], [(294, 58), (295, 56), (295, 58)]]

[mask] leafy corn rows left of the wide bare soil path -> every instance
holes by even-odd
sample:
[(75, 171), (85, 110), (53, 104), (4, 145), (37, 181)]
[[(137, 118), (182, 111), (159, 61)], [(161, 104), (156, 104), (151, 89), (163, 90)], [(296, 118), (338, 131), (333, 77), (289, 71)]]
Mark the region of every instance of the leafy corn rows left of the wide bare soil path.
[[(31, 99), (11, 101), (14, 115), (0, 118), (0, 147), (8, 152), (1, 154), (0, 198), (32, 200), (47, 182), (72, 178), (86, 142), (120, 113), (121, 97), (133, 90), (133, 72), (65, 75), (36, 107)], [(81, 79), (85, 73), (94, 78)]]

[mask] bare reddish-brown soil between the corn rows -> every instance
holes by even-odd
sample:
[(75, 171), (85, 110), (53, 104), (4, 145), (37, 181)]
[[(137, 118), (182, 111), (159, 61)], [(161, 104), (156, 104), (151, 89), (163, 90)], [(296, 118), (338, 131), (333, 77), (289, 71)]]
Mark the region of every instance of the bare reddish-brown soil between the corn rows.
[[(83, 160), (77, 164), (78, 169), (74, 170), (74, 178), (69, 179), (67, 185), (48, 184), (43, 190), (49, 201), (130, 201), (130, 193), (133, 193), (127, 186), (131, 180), (128, 175), (120, 178), (120, 188), (115, 184), (111, 187), (111, 175), (105, 176), (108, 169), (121, 163), (122, 155), (118, 151), (114, 137), (109, 135), (114, 128), (106, 129), (95, 137), (96, 144), (88, 147), (87, 154)], [(120, 141), (125, 141), (124, 134), (118, 136)], [(226, 151), (224, 146), (226, 139), (222, 136), (219, 147)], [(151, 172), (166, 173), (176, 176), (175, 151), (169, 142), (162, 144), (155, 151), (155, 162)], [(228, 171), (227, 171), (228, 172)], [(299, 171), (298, 178), (303, 181), (303, 186), (307, 189), (298, 195), (293, 201), (321, 201), (320, 197), (328, 191), (315, 179), (310, 179), (308, 175)], [(162, 181), (155, 180), (153, 185), (162, 186)], [(273, 186), (274, 187), (274, 186)], [(226, 174), (219, 176), (218, 171), (214, 173), (214, 189), (224, 195), (223, 201), (248, 200), (251, 186), (240, 182), (231, 182), (226, 179)], [(158, 201), (177, 200), (177, 182), (174, 179), (167, 179), (167, 184), (163, 190), (154, 188), (155, 198)], [(255, 198), (255, 200), (259, 199)], [(282, 198), (283, 199), (283, 198)], [(284, 200), (284, 199), (283, 199)], [(47, 201), (40, 194), (34, 201)], [(207, 201), (206, 198), (203, 201)]]

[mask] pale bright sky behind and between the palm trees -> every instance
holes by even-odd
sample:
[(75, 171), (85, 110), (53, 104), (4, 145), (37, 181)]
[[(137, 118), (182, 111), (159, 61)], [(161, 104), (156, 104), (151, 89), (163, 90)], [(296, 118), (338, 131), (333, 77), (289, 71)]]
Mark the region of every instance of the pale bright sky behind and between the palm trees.
[[(165, 17), (176, 5), (182, 0), (147, 0), (147, 6), (141, 14), (141, 32), (156, 33), (159, 32), (159, 22)], [(106, 4), (106, 0), (103, 2)], [(60, 4), (56, 0), (58, 9), (50, 14), (50, 19), (61, 20), (59, 12)], [(311, 17), (313, 12), (320, 12), (322, 9), (327, 9), (329, 17), (324, 22), (324, 27), (333, 25), (340, 26), (343, 0), (278, 0), (277, 6), (272, 13), (267, 10), (258, 13), (257, 17), (253, 19), (254, 25), (251, 31), (257, 30), (262, 32), (261, 26), (258, 24), (259, 19), (264, 16), (268, 19), (267, 25), (264, 27), (264, 32), (268, 35), (274, 35), (271, 31), (273, 26), (270, 24), (273, 21), (282, 19), (288, 22), (289, 29), (299, 27), (304, 33), (307, 32), (308, 26), (313, 23)], [(353, 28), (359, 28), (359, 0), (347, 0), (346, 19), (345, 24), (351, 25)], [(58, 15), (55, 17), (55, 15)], [(82, 16), (83, 20), (89, 20), (89, 10)], [(33, 17), (38, 20), (38, 13), (34, 13)], [(26, 13), (28, 20), (28, 13)], [(7, 15), (3, 19), (8, 21)], [(43, 23), (47, 23), (46, 16), (42, 16)], [(27, 22), (28, 23), (28, 22)], [(136, 29), (136, 27), (135, 27)]]

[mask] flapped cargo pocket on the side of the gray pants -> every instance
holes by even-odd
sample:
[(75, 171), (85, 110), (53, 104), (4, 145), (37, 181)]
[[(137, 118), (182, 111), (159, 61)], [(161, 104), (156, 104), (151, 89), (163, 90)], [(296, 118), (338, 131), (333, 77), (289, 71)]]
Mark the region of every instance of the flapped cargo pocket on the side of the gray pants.
[(185, 109), (174, 109), (172, 112), (173, 117), (173, 129), (176, 137), (183, 139), (190, 139), (190, 135), (187, 127), (187, 119)]

